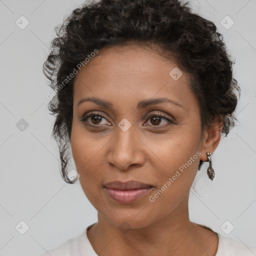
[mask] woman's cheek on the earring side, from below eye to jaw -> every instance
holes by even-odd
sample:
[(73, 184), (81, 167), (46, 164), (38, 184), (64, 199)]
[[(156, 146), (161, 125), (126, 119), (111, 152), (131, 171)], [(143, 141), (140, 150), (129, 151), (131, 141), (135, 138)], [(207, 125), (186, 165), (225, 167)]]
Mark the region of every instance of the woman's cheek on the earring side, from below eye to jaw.
[(160, 190), (152, 198), (155, 205), (169, 200), (170, 209), (189, 190), (200, 160), (199, 138), (200, 129), (186, 123), (176, 126), (160, 140), (151, 140), (150, 148), (157, 157), (153, 156), (150, 162), (157, 169), (157, 189)]

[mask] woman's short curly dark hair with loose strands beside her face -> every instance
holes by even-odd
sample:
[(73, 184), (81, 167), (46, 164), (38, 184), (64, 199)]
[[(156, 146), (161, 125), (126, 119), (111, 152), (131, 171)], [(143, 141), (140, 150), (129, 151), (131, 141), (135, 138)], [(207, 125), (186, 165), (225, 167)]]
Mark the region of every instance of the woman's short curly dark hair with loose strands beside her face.
[(223, 36), (214, 23), (192, 13), (188, 4), (179, 0), (84, 2), (55, 26), (56, 37), (43, 63), (43, 73), (54, 92), (48, 109), (56, 115), (52, 136), (58, 144), (65, 182), (76, 181), (66, 173), (74, 78), (61, 89), (58, 86), (95, 48), (137, 43), (167, 59), (174, 57), (181, 70), (190, 75), (189, 86), (199, 102), (202, 129), (221, 118), (221, 135), (226, 136), (235, 125), (235, 90), (240, 96), (240, 87), (232, 75), (234, 62), (229, 59)]

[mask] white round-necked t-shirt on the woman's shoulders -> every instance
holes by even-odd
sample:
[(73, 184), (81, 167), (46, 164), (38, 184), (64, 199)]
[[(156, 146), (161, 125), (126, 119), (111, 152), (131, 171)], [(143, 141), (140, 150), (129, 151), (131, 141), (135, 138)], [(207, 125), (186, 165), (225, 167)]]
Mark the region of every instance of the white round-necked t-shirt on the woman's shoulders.
[[(87, 230), (95, 223), (86, 227), (80, 235), (70, 238), (55, 249), (45, 251), (38, 256), (97, 256), (87, 237)], [(209, 228), (210, 229), (210, 228)], [(235, 239), (218, 235), (218, 249), (215, 256), (255, 256), (256, 248), (243, 244)]]

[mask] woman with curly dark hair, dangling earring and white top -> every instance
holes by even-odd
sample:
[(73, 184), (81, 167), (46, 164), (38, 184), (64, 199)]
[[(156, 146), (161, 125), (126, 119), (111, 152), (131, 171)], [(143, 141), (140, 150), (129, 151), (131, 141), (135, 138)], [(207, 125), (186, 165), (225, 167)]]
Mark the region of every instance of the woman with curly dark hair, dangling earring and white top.
[[(53, 89), (61, 172), (72, 156), (98, 221), (44, 255), (253, 255), (189, 220), (197, 169), (236, 120), (232, 62), (216, 26), (178, 0), (101, 0), (57, 30)], [(56, 94), (56, 95), (55, 95)]]

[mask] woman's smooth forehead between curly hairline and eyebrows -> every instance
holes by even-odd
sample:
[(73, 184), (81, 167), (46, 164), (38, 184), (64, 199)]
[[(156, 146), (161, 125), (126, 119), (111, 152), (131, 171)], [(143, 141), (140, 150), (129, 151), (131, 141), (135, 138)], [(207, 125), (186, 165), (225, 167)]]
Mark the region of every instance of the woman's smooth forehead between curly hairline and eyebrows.
[(112, 46), (99, 50), (76, 74), (74, 104), (85, 96), (118, 97), (128, 103), (131, 98), (169, 95), (185, 102), (194, 97), (188, 83), (189, 76), (173, 59), (139, 45)]

